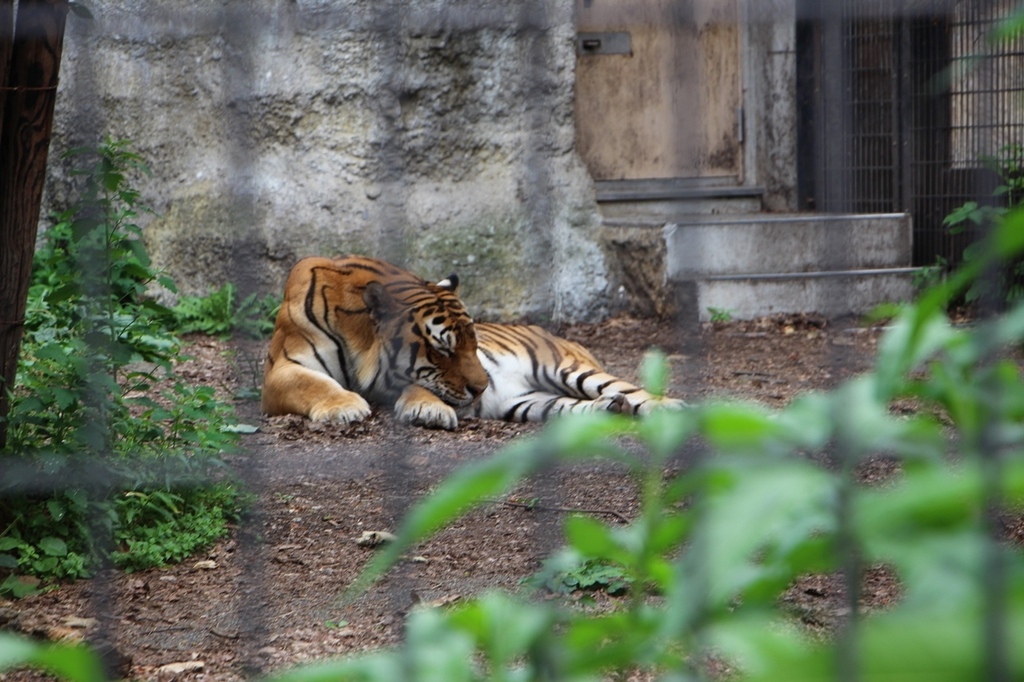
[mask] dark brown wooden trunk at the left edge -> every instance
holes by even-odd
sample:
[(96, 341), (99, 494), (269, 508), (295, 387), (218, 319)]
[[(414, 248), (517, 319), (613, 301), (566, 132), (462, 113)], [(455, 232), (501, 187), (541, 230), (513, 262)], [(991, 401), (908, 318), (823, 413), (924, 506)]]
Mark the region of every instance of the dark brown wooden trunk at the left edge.
[[(11, 5), (0, 0), (0, 31), (9, 28)], [(0, 33), (0, 447), (7, 442), (7, 394), (25, 327), (67, 16), (68, 0), (19, 0), (13, 41)]]

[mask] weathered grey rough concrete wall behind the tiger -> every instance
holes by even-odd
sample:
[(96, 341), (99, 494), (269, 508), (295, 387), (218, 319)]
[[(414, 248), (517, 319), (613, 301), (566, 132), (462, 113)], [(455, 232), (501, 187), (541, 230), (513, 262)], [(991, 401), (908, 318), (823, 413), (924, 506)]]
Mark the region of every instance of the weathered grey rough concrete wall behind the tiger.
[[(184, 293), (278, 291), (302, 256), (362, 253), (459, 272), (481, 318), (598, 316), (568, 4), (93, 0), (51, 159), (134, 141), (146, 241)], [(56, 209), (71, 179), (50, 174)]]

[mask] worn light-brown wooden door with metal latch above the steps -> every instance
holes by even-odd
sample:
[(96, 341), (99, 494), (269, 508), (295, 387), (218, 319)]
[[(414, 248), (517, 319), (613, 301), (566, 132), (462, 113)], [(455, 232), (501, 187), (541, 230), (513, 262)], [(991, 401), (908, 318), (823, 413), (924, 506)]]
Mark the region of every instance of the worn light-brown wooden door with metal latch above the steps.
[[(577, 146), (594, 179), (739, 181), (736, 2), (577, 0), (589, 40), (578, 41)], [(625, 33), (626, 53), (603, 53), (602, 37)]]

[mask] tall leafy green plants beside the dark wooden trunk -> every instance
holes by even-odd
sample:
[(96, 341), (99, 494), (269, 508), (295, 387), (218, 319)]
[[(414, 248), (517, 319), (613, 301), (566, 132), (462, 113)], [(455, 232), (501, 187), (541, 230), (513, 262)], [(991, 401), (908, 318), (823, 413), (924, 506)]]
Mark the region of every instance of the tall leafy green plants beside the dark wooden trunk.
[[(35, 256), (0, 454), (12, 472), (0, 481), (0, 595), (34, 589), (38, 581), (26, 576), (88, 576), (105, 557), (121, 561), (119, 544), (168, 531), (171, 521), (191, 540), (151, 543), (131, 561), (175, 560), (185, 545), (222, 534), (236, 513), (221, 459), (237, 439), (233, 411), (212, 388), (176, 376), (181, 344), (166, 326), (170, 311), (146, 296), (155, 284), (174, 290), (154, 269), (136, 222), (147, 209), (131, 179), (148, 169), (125, 141), (70, 154), (82, 164), (81, 198)], [(223, 482), (211, 486), (211, 478)], [(173, 518), (140, 514), (170, 513), (174, 500)]]

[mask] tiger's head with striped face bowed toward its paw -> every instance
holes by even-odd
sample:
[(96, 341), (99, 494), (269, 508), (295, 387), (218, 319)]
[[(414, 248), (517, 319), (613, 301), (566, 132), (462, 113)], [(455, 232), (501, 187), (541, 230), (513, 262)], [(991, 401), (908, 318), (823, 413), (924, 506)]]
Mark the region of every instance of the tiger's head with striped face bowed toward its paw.
[(453, 408), (487, 387), (476, 355), (473, 319), (458, 296), (459, 278), (428, 282), (370, 282), (362, 299), (382, 340), (380, 372), (401, 390), (421, 386)]

